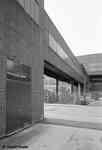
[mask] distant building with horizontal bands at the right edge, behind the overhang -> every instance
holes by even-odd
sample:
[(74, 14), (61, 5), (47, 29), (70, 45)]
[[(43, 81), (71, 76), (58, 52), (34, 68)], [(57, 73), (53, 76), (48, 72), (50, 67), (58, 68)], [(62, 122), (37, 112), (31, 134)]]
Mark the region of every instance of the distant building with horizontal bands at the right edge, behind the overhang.
[(90, 54), (77, 57), (86, 69), (91, 82), (89, 91), (93, 98), (102, 97), (102, 54)]

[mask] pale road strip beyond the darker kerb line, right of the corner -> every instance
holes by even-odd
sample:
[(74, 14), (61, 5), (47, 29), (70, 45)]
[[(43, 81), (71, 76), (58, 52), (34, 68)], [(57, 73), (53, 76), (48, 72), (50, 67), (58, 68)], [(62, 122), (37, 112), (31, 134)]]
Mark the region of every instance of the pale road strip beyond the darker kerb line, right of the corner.
[(102, 106), (45, 104), (46, 122), (102, 129)]

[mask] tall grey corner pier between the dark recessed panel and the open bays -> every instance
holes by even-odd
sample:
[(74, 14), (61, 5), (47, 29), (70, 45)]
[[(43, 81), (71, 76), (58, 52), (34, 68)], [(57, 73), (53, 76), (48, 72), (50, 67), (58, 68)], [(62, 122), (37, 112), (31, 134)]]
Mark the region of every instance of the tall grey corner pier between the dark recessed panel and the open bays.
[(44, 117), (43, 94), (43, 33), (37, 28), (36, 44), (32, 51), (32, 123)]

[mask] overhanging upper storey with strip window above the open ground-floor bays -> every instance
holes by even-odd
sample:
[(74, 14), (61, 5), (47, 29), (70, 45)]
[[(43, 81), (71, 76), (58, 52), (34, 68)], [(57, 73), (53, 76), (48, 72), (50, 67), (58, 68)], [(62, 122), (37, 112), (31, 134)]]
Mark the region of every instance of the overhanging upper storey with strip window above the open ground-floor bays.
[(45, 50), (43, 55), (44, 60), (56, 66), (58, 69), (61, 69), (61, 71), (68, 74), (73, 79), (84, 83), (84, 80), (87, 79), (87, 77), (83, 73), (81, 65), (76, 57), (72, 54), (70, 48), (65, 43), (63, 37), (47, 13), (43, 9), (41, 11), (41, 19), (43, 18), (41, 27), (44, 31), (43, 37), (45, 42)]

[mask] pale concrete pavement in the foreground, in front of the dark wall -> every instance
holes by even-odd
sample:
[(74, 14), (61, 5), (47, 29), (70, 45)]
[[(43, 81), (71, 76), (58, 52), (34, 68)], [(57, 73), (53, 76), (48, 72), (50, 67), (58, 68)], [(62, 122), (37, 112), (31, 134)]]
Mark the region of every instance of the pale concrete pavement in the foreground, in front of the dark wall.
[(0, 141), (0, 150), (11, 150), (10, 146), (14, 150), (102, 150), (102, 131), (36, 124)]

